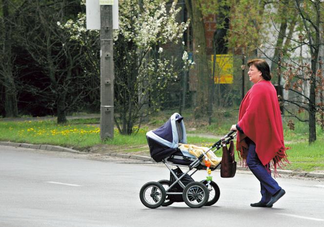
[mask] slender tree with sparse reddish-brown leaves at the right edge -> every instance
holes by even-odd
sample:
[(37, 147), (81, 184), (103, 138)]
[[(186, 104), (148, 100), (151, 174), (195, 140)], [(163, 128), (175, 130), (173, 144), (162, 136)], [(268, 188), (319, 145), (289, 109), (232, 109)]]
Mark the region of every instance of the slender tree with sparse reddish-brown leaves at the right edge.
[[(324, 3), (320, 0), (295, 0), (294, 9), (298, 15), (299, 26), (297, 27), (298, 39), (292, 41), (297, 47), (305, 46), (310, 59), (309, 62), (304, 62), (303, 58), (300, 61), (289, 59), (290, 62), (284, 64), (285, 89), (301, 97), (284, 101), (297, 106), (299, 112), (308, 112), (307, 120), (301, 119), (296, 114), (293, 116), (301, 121), (308, 121), (309, 143), (316, 140), (316, 113), (323, 112), (324, 109), (324, 103), (317, 102), (324, 90), (319, 57), (323, 45), (323, 6)], [(304, 84), (309, 85), (309, 95), (304, 89)]]

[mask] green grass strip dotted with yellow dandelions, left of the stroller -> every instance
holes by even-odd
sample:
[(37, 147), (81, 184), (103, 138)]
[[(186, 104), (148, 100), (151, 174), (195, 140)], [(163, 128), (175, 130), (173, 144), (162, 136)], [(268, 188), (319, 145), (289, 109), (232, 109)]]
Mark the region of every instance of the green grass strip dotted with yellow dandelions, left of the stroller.
[[(75, 122), (75, 124), (71, 124)], [(83, 122), (83, 123), (82, 123)], [(145, 130), (136, 135), (121, 135), (117, 130), (114, 139), (101, 142), (97, 125), (87, 124), (88, 119), (73, 120), (70, 124), (57, 125), (55, 121), (0, 122), (0, 140), (31, 144), (51, 144), (85, 148), (97, 144), (139, 145), (146, 144)]]

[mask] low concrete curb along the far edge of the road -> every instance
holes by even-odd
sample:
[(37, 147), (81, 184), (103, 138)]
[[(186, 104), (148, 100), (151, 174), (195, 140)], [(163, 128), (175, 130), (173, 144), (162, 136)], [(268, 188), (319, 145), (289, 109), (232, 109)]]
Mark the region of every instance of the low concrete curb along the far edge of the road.
[[(80, 154), (88, 154), (88, 152), (81, 152), (77, 150), (73, 150), (70, 148), (64, 148), (61, 146), (53, 146), (53, 145), (44, 145), (44, 144), (27, 144), (27, 143), (14, 143), (14, 142), (3, 142), (0, 141), (0, 145), (3, 146), (12, 146), (18, 148), (31, 148), (36, 150), (45, 150), (45, 151), (60, 151), (60, 152), (72, 152), (72, 153), (80, 153)], [(120, 153), (108, 153), (104, 154), (112, 157), (119, 158), (127, 158), (134, 159), (143, 162), (155, 162), (151, 157), (135, 155), (135, 154), (120, 154)], [(237, 170), (248, 170), (247, 167), (237, 166)], [(291, 176), (299, 176), (305, 178), (324, 178), (324, 173), (319, 172), (297, 172), (293, 170), (277, 170), (279, 174), (291, 175)]]

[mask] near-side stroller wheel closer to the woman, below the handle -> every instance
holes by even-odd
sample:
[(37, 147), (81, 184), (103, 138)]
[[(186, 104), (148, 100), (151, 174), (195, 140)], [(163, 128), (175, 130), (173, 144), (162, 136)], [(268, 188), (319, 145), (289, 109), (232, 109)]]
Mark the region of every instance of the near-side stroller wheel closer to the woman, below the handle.
[(201, 208), (208, 201), (209, 191), (201, 182), (190, 182), (183, 189), (183, 201), (191, 208)]

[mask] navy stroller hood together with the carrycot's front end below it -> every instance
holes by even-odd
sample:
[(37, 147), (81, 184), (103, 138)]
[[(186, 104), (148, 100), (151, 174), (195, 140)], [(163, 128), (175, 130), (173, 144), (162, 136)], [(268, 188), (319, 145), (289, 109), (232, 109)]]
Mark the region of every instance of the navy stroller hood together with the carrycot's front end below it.
[(151, 157), (161, 162), (177, 151), (179, 143), (187, 143), (183, 117), (178, 113), (172, 114), (160, 128), (147, 132), (146, 138)]

